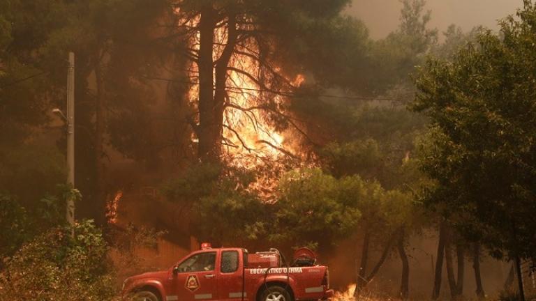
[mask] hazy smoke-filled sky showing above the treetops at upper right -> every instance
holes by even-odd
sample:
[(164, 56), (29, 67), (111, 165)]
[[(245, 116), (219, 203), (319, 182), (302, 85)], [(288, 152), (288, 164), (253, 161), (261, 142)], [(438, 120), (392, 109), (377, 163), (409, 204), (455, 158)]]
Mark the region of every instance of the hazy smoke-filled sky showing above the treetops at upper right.
[[(497, 29), (497, 20), (516, 12), (523, 0), (428, 0), (427, 10), (432, 10), (431, 27), (445, 31), (449, 24), (469, 31), (483, 25)], [(399, 0), (352, 0), (348, 13), (365, 22), (371, 37), (384, 38), (399, 24)]]

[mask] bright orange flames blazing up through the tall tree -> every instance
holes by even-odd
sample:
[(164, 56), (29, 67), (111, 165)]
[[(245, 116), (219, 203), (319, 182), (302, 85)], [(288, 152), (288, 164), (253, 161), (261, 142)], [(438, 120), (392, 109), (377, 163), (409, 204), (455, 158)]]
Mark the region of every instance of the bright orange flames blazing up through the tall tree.
[[(177, 13), (179, 13), (179, 10), (177, 10)], [(199, 18), (193, 18), (189, 22), (189, 26), (195, 27), (199, 22)], [(221, 56), (227, 36), (228, 30), (225, 26), (216, 29), (213, 50), (214, 61)], [(193, 49), (199, 49), (199, 33), (192, 37), (190, 43)], [(251, 43), (248, 47), (239, 45), (237, 47), (242, 54), (234, 53), (230, 65), (238, 70), (244, 70), (250, 75), (260, 75), (262, 72), (260, 63), (253, 59), (253, 57), (259, 55), (258, 47), (255, 46), (255, 43)], [(274, 69), (278, 70), (278, 68)], [(191, 62), (188, 72), (190, 77), (195, 78), (198, 75), (198, 65)], [(304, 83), (305, 77), (297, 75), (293, 80), (286, 80), (291, 83), (291, 86), (300, 86)], [(258, 109), (267, 97), (271, 98), (272, 103), (281, 105), (285, 101), (281, 95), (262, 91), (262, 88), (253, 79), (234, 70), (228, 72), (226, 86), (229, 103), (223, 116), (222, 147), (223, 153), (227, 154), (225, 159), (230, 164), (251, 169), (263, 161), (276, 161), (283, 156), (295, 153), (292, 151), (292, 145), (287, 142), (289, 139), (285, 137), (288, 133), (278, 132), (267, 120), (267, 114)], [(194, 83), (188, 91), (188, 97), (193, 105), (195, 105), (198, 95), (199, 86)]]

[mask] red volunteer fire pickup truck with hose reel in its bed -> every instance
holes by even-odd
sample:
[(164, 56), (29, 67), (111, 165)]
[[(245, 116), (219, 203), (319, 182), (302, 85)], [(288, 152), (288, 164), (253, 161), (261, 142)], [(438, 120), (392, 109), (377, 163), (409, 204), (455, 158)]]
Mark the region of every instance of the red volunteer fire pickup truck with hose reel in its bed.
[(123, 295), (142, 301), (292, 301), (326, 300), (329, 272), (311, 250), (298, 249), (284, 263), (277, 249), (249, 254), (242, 248), (203, 243), (172, 268), (127, 278)]

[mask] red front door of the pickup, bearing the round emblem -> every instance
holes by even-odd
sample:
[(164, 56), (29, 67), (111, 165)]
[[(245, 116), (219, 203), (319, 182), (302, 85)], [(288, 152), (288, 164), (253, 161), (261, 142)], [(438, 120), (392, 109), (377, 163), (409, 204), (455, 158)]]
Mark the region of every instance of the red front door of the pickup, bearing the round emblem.
[(218, 300), (216, 255), (215, 251), (196, 253), (179, 263), (174, 279), (177, 293), (168, 296), (167, 301)]

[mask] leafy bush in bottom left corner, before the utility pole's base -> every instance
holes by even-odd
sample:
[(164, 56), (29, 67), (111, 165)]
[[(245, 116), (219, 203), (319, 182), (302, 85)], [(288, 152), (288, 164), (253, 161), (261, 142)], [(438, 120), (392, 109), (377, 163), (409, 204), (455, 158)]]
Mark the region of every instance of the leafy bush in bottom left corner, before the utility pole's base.
[(6, 261), (0, 272), (0, 299), (110, 299), (114, 292), (106, 252), (102, 234), (91, 221), (50, 229)]

